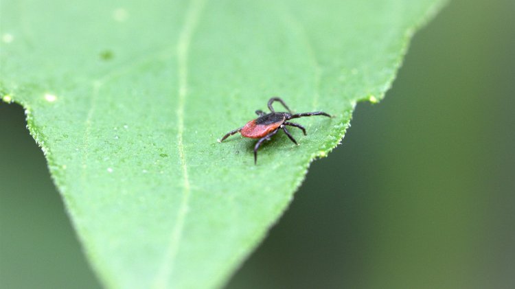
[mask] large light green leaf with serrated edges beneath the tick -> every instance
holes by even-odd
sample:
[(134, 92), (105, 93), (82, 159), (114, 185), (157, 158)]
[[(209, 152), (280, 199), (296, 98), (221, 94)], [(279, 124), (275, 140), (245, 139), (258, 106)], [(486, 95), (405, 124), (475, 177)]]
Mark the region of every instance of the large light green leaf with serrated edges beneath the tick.
[[(284, 212), (315, 157), (381, 100), (439, 0), (1, 3), (4, 101), (27, 111), (108, 288), (212, 288)], [(279, 95), (299, 119), (253, 163), (217, 139)], [(279, 106), (276, 106), (278, 108)]]

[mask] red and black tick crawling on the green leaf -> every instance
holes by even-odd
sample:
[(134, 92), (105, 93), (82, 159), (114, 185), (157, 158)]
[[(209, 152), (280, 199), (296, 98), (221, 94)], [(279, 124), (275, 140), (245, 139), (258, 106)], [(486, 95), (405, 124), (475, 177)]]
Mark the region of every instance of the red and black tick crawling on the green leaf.
[[(272, 106), (273, 102), (280, 102), (284, 108), (286, 108), (288, 113), (276, 113)], [(310, 117), (312, 115), (324, 115), (326, 117), (331, 117), (328, 113), (324, 113), (323, 111), (315, 111), (313, 113), (292, 113), (290, 108), (288, 108), (284, 101), (279, 97), (272, 97), (270, 100), (268, 100), (268, 109), (270, 109), (271, 113), (264, 113), (260, 110), (255, 111), (255, 113), (260, 117), (247, 122), (247, 124), (245, 124), (242, 128), (227, 132), (227, 135), (224, 135), (224, 137), (220, 139), (220, 142), (224, 141), (224, 139), (227, 139), (227, 137), (236, 134), (237, 132), (240, 132), (244, 137), (259, 139), (254, 146), (254, 163), (257, 163), (258, 148), (260, 148), (261, 143), (263, 143), (263, 141), (269, 141), (270, 138), (279, 130), (284, 130), (284, 133), (286, 133), (288, 138), (290, 138), (290, 140), (295, 144), (297, 144), (297, 141), (295, 141), (292, 135), (290, 135), (290, 132), (286, 129), (286, 126), (295, 126), (295, 128), (300, 128), (302, 132), (304, 132), (304, 135), (306, 135), (306, 128), (304, 128), (304, 126), (295, 124), (293, 122), (288, 122), (288, 120), (299, 117)]]

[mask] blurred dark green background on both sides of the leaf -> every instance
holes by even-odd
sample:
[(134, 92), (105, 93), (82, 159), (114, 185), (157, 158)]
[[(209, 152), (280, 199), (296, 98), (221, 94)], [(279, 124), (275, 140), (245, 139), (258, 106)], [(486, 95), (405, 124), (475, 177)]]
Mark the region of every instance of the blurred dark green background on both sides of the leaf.
[[(515, 288), (514, 15), (456, 0), (417, 33), (227, 287)], [(0, 152), (0, 287), (100, 287), (16, 104)]]

